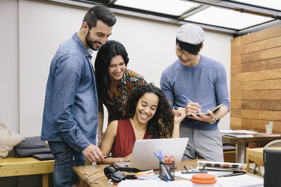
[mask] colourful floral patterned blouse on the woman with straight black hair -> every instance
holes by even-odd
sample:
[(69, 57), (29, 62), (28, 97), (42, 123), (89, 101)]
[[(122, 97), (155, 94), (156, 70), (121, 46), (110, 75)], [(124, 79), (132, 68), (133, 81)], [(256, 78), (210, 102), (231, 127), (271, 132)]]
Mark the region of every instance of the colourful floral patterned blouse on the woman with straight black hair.
[(122, 79), (118, 85), (115, 98), (110, 98), (110, 90), (108, 90), (107, 96), (105, 97), (105, 100), (103, 100), (103, 104), (105, 104), (108, 111), (108, 123), (112, 122), (112, 120), (123, 119), (123, 106), (129, 93), (136, 85), (138, 85), (138, 83), (146, 83), (143, 76), (131, 71), (130, 69), (125, 69)]

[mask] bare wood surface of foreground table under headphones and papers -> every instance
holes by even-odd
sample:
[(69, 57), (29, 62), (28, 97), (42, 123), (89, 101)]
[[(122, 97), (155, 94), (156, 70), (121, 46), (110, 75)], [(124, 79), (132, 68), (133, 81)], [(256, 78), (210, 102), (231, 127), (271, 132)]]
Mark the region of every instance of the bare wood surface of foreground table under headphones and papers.
[[(183, 165), (192, 165), (192, 167), (197, 166), (197, 160), (183, 160), (178, 168), (175, 171), (181, 171)], [(86, 165), (73, 167), (74, 172), (77, 173), (80, 179), (79, 186), (114, 186), (108, 184), (108, 179), (103, 173), (103, 169), (108, 165)], [(156, 173), (156, 172), (155, 172)], [(91, 175), (92, 174), (92, 175)], [(130, 174), (129, 172), (124, 172), (124, 174)], [(90, 176), (91, 175), (91, 176)], [(177, 177), (175, 177), (177, 179)], [(181, 179), (181, 178), (180, 178)]]

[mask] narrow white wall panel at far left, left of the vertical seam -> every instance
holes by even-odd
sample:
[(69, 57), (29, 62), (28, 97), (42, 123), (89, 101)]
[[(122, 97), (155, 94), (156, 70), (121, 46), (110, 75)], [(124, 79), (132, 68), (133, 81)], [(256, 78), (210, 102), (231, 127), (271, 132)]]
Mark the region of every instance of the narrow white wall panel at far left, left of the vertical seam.
[(19, 132), (18, 1), (0, 1), (0, 120)]

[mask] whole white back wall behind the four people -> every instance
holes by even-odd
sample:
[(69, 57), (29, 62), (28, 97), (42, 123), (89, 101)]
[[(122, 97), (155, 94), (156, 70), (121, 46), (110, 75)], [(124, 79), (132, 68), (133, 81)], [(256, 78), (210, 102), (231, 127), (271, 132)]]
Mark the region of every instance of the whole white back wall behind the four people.
[[(17, 2), (12, 1), (15, 4)], [(60, 43), (78, 32), (86, 8), (49, 1), (18, 0), (18, 6), (9, 9), (11, 10), (6, 10), (4, 17), (0, 17), (1, 28), (6, 24), (7, 16), (11, 16), (10, 19), (13, 20), (11, 28), (8, 31), (1, 29), (0, 34), (1, 39), (3, 37), (6, 41), (0, 43), (1, 49), (7, 50), (0, 64), (0, 73), (3, 74), (0, 75), (0, 119), (24, 136), (39, 135), (51, 59)], [(176, 60), (175, 34), (179, 26), (117, 14), (117, 24), (110, 39), (120, 41), (126, 47), (130, 58), (129, 69), (145, 76), (148, 82), (159, 85), (164, 68)], [(233, 36), (209, 30), (205, 32), (202, 54), (224, 64), (230, 85), (230, 39)], [(7, 37), (8, 34), (12, 36)], [(19, 52), (15, 50), (18, 46)], [(3, 50), (0, 51), (3, 53)], [(2, 59), (2, 54), (0, 56)], [(8, 66), (7, 60), (11, 61)], [(229, 127), (229, 116), (221, 121), (219, 127)]]

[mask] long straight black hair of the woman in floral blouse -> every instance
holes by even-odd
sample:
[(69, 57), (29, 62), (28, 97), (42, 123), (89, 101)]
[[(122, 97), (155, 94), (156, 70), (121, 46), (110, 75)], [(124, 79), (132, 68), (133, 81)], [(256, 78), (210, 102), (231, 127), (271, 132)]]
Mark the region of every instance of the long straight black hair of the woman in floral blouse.
[(121, 55), (124, 59), (125, 65), (127, 66), (129, 62), (128, 53), (122, 43), (118, 41), (107, 41), (100, 50), (98, 50), (96, 61), (95, 61), (95, 71), (96, 71), (96, 81), (98, 85), (98, 95), (104, 99), (109, 90), (110, 77), (108, 76), (107, 69), (110, 66), (110, 60), (117, 55)]

